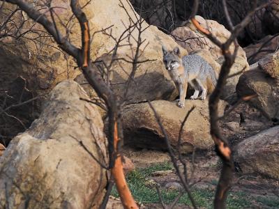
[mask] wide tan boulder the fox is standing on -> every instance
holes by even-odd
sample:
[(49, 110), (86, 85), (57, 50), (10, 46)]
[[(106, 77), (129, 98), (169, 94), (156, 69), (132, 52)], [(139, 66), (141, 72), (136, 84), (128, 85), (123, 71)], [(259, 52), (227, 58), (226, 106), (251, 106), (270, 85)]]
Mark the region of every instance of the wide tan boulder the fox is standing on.
[[(169, 142), (176, 146), (179, 138), (181, 121), (188, 110), (196, 105), (190, 114), (181, 137), (181, 152), (190, 153), (193, 148), (209, 149), (213, 140), (209, 134), (208, 102), (202, 100), (186, 100), (186, 107), (179, 108), (176, 102), (157, 100), (151, 102), (165, 127)], [(220, 105), (220, 113), (223, 111)], [(123, 109), (124, 141), (133, 147), (167, 150), (163, 133), (160, 130), (153, 111), (148, 103), (130, 104)]]

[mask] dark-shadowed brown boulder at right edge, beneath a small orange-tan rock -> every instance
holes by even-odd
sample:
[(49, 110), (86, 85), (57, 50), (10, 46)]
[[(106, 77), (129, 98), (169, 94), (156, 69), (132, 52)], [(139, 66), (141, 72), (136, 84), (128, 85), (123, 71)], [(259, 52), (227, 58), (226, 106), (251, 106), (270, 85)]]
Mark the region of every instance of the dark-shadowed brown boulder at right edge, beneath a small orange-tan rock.
[(262, 69), (248, 70), (239, 78), (236, 86), (239, 98), (247, 95), (257, 95), (249, 100), (249, 104), (261, 110), (271, 120), (279, 119), (279, 85)]

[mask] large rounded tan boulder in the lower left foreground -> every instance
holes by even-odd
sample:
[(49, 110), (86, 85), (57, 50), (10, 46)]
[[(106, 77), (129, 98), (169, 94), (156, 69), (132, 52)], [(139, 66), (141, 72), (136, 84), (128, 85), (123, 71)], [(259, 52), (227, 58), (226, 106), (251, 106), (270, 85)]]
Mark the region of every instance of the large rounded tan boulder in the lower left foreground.
[(76, 82), (61, 82), (40, 117), (0, 158), (0, 208), (98, 208), (107, 163), (103, 121)]

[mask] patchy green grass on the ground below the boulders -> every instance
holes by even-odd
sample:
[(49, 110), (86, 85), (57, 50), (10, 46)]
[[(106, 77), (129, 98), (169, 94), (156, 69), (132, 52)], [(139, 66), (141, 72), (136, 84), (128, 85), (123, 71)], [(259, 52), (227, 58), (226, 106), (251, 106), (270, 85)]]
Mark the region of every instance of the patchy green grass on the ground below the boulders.
[[(159, 196), (156, 192), (155, 185), (150, 183), (151, 173), (154, 171), (163, 171), (173, 169), (172, 164), (165, 162), (163, 164), (154, 164), (144, 169), (137, 169), (126, 176), (130, 190), (140, 203), (159, 203)], [(217, 180), (213, 182), (217, 185)], [(172, 203), (179, 191), (160, 189), (164, 203)], [(211, 189), (193, 189), (193, 198), (199, 208), (213, 208), (214, 191)], [(112, 196), (119, 197), (115, 187), (112, 189)], [(273, 199), (253, 199), (264, 206), (278, 206), (278, 201)], [(250, 208), (252, 198), (247, 199), (246, 194), (243, 192), (230, 192), (227, 198), (227, 208)], [(184, 194), (179, 200), (180, 204), (191, 206), (188, 195)], [(277, 204), (277, 205), (276, 205)]]

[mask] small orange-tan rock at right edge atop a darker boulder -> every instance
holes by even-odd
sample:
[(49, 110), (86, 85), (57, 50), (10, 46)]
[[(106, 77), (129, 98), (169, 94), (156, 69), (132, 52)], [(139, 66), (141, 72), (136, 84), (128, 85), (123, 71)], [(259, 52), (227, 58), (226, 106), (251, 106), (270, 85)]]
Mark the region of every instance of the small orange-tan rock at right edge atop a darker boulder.
[(267, 54), (259, 60), (259, 68), (279, 81), (279, 52)]

